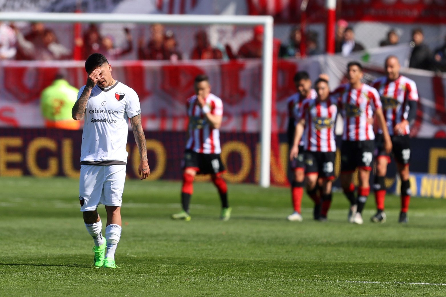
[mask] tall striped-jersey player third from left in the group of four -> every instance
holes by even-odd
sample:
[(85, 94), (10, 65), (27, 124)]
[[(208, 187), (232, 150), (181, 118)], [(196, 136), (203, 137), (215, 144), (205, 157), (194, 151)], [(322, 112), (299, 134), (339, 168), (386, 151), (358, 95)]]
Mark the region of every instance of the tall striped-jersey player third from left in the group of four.
[[(392, 141), (381, 108), (380, 95), (375, 88), (361, 82), (363, 67), (358, 62), (347, 64), (349, 83), (339, 86), (332, 95), (338, 99), (338, 109), (344, 120), (341, 146), (341, 186), (350, 201), (348, 221), (362, 224), (362, 210), (370, 194), (370, 171), (372, 170), (375, 133), (373, 116), (383, 131), (384, 150), (390, 153)], [(353, 174), (358, 168), (358, 196), (355, 197)]]

